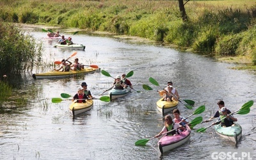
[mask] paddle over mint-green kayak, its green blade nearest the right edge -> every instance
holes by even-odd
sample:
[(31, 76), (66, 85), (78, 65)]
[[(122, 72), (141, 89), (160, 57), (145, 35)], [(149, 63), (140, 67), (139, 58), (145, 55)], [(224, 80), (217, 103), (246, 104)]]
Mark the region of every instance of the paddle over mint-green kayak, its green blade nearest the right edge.
[[(253, 105), (253, 100), (250, 100), (248, 102), (246, 102), (240, 109), (237, 109), (236, 111), (234, 111), (233, 113), (230, 113), (230, 115), (234, 115), (234, 114), (239, 114), (239, 115), (246, 115), (250, 112), (250, 107), (252, 107)], [(200, 128), (200, 129), (197, 129), (196, 132), (205, 132), (207, 128), (211, 127), (212, 125), (216, 125), (218, 123), (221, 122), (221, 120), (225, 119), (226, 117), (224, 118), (221, 118), (220, 120), (218, 120), (217, 122), (214, 122), (213, 124), (205, 127), (205, 128)]]

